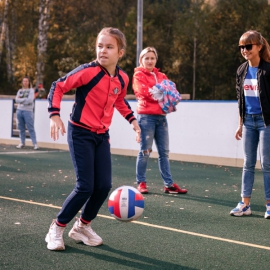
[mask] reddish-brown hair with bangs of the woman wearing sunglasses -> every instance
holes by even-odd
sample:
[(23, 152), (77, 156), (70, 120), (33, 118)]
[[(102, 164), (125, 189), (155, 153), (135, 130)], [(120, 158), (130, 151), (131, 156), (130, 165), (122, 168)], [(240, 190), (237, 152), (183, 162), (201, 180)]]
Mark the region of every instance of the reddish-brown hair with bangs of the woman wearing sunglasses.
[(255, 30), (249, 30), (245, 32), (240, 37), (239, 45), (246, 44), (261, 45), (262, 49), (259, 52), (260, 58), (262, 58), (266, 62), (270, 62), (270, 46), (260, 32), (257, 32)]

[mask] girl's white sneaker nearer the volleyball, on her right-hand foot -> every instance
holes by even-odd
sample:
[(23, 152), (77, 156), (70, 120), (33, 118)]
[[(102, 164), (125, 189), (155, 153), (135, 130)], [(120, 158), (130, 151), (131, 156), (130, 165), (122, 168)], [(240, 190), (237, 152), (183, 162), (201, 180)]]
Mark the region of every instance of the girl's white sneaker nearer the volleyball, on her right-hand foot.
[(88, 246), (99, 246), (103, 243), (102, 238), (94, 232), (90, 224), (82, 223), (79, 218), (76, 218), (75, 224), (68, 236)]

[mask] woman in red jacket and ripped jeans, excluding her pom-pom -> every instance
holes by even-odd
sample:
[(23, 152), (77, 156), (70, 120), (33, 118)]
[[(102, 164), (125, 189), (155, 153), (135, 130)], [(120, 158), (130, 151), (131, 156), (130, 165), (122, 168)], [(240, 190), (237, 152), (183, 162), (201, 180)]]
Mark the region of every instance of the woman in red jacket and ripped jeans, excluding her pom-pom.
[[(157, 59), (158, 54), (155, 48), (145, 48), (142, 50), (139, 57), (140, 66), (135, 68), (133, 75), (132, 87), (138, 100), (137, 119), (141, 128), (140, 151), (136, 162), (137, 189), (143, 194), (148, 193), (146, 168), (152, 152), (153, 141), (155, 141), (159, 155), (159, 171), (164, 182), (164, 192), (185, 194), (187, 190), (180, 188), (174, 183), (171, 175), (169, 163), (169, 133), (166, 118), (168, 111), (165, 109), (162, 110), (162, 106), (160, 106), (162, 97), (159, 99), (160, 97), (158, 95), (155, 98), (153, 96), (155, 86), (158, 86), (158, 84), (162, 83), (164, 80), (168, 80), (167, 76), (159, 72), (155, 67)], [(175, 110), (173, 106), (167, 109)]]

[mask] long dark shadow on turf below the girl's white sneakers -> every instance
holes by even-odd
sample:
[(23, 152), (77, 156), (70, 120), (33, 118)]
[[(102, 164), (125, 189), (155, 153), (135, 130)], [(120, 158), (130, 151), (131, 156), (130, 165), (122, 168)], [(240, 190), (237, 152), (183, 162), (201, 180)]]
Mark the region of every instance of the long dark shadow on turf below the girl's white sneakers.
[[(84, 244), (82, 243), (78, 243), (78, 245), (84, 246)], [(114, 255), (110, 256), (106, 254), (95, 253), (95, 249), (101, 249), (106, 252), (115, 253), (116, 256), (118, 257), (115, 257)], [(118, 265), (118, 267), (120, 266), (132, 267), (134, 269), (141, 269), (141, 270), (143, 269), (147, 269), (147, 270), (150, 270), (150, 269), (196, 270), (196, 268), (191, 268), (191, 267), (182, 266), (180, 264), (156, 260), (156, 259), (152, 259), (151, 257), (142, 256), (135, 253), (124, 252), (122, 250), (114, 249), (107, 245), (95, 247), (94, 249), (91, 249), (89, 251), (85, 251), (79, 248), (69, 247), (66, 245), (65, 253), (71, 253), (71, 254), (78, 253), (78, 254), (94, 257), (95, 259), (98, 259), (101, 261), (116, 264)], [(119, 256), (123, 256), (124, 258), (121, 259), (119, 258)]]

